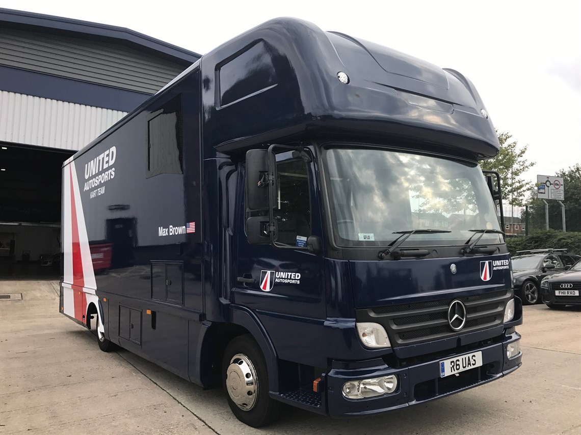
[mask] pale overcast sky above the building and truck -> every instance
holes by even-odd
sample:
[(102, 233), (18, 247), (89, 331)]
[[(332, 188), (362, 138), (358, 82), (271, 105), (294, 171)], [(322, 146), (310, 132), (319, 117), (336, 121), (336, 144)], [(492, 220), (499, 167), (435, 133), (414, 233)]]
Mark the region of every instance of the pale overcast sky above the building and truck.
[(200, 54), (269, 19), (297, 17), (460, 71), (494, 126), (528, 144), (526, 158), (535, 166), (526, 179), (581, 162), (579, 0), (0, 0), (0, 6), (127, 27)]

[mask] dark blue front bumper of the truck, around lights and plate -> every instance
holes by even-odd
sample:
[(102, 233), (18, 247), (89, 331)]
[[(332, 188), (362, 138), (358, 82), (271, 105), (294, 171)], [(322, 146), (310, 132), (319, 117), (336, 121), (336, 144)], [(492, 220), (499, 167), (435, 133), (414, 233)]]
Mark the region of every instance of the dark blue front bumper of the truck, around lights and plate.
[[(431, 361), (408, 365), (405, 368), (389, 367), (382, 358), (361, 362), (336, 362), (325, 376), (327, 386), (327, 412), (334, 417), (367, 415), (424, 403), (472, 387), (491, 382), (510, 374), (521, 366), (522, 351), (507, 358), (507, 345), (521, 336), (510, 328), (498, 342), (460, 353), (451, 352)], [(482, 366), (460, 374), (440, 378), (440, 361), (466, 353), (482, 351)], [(397, 375), (399, 388), (392, 394), (372, 398), (348, 399), (343, 396), (343, 384), (349, 380)]]

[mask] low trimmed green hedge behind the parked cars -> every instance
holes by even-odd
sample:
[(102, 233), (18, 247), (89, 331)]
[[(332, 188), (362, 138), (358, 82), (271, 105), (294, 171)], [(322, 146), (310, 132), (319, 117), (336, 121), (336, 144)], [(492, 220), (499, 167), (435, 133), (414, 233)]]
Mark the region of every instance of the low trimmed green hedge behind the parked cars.
[(581, 233), (563, 233), (563, 231), (535, 231), (529, 235), (507, 237), (508, 251), (517, 255), (525, 249), (566, 248), (567, 252), (581, 255)]

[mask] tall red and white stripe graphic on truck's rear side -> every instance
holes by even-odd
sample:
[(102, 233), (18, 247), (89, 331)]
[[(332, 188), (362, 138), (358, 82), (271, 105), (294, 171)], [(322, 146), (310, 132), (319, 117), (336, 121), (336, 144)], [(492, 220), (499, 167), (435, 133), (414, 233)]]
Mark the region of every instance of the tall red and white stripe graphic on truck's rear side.
[[(85, 323), (87, 296), (96, 282), (74, 161), (63, 168), (63, 311)], [(89, 299), (95, 299), (95, 297)]]

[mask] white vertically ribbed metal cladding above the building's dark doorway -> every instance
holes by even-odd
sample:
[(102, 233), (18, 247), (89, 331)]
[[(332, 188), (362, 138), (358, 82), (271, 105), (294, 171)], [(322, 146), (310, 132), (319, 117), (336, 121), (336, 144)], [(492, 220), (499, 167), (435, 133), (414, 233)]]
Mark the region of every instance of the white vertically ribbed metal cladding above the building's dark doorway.
[(0, 142), (80, 150), (125, 114), (0, 90)]

